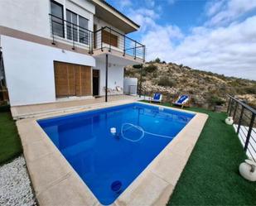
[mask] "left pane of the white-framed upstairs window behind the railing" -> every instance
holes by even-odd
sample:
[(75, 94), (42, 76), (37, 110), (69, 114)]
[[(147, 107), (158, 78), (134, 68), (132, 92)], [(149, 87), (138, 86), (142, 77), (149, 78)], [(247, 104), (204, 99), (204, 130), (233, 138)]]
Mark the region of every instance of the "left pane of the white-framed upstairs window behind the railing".
[(66, 32), (69, 40), (77, 41), (77, 14), (66, 10)]

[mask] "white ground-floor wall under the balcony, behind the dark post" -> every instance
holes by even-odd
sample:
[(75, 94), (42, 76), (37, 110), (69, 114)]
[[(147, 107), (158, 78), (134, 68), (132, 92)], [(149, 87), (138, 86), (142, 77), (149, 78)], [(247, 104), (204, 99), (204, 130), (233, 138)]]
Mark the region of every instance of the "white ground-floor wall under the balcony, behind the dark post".
[[(106, 64), (105, 62), (96, 61), (94, 69), (99, 69), (99, 95), (104, 95), (105, 77), (106, 77)], [(108, 72), (108, 88), (116, 89), (117, 86), (123, 88), (123, 66), (109, 64)], [(122, 91), (119, 92), (123, 93)], [(116, 92), (115, 94), (118, 94)]]

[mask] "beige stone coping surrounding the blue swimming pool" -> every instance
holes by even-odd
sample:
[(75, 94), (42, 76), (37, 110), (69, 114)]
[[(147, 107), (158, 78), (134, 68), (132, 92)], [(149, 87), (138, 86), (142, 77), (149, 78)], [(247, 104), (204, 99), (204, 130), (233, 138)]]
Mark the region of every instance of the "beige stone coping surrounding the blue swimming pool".
[[(36, 121), (48, 117), (59, 117), (135, 102), (128, 100), (102, 103), (77, 111), (48, 114), (17, 121), (17, 129), (22, 140), (27, 169), (35, 190), (36, 199), (40, 205), (91, 206), (102, 204), (99, 203), (99, 200), (96, 199)], [(133, 180), (132, 184), (123, 191), (123, 194), (112, 205), (166, 205), (208, 118), (205, 113), (184, 111), (151, 103), (142, 104), (196, 115), (176, 135), (176, 138), (147, 165), (146, 169)]]

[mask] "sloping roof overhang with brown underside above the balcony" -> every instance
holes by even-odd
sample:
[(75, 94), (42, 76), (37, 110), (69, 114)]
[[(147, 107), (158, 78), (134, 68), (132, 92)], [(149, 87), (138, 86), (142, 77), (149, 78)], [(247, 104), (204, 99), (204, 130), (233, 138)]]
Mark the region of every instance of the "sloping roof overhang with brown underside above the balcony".
[(108, 2), (105, 2), (104, 0), (91, 1), (94, 2), (95, 5), (95, 16), (103, 19), (104, 22), (108, 22), (125, 34), (139, 29), (140, 26), (138, 24), (112, 7)]

